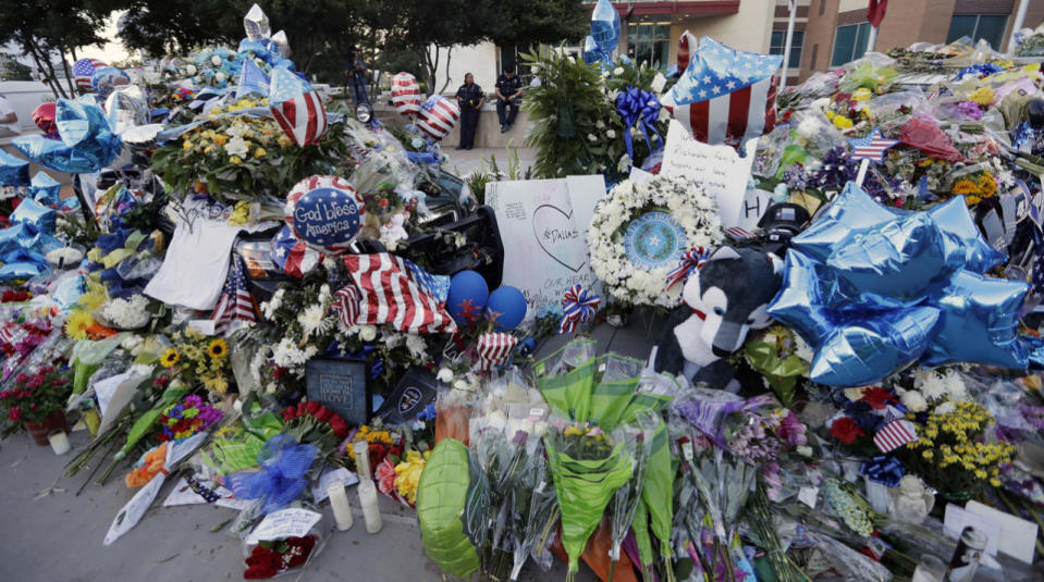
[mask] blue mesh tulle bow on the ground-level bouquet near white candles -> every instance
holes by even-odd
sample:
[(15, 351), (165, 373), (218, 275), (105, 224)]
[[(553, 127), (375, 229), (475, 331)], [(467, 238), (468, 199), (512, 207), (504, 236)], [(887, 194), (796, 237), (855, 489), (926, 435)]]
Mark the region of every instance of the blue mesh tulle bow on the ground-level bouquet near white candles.
[(316, 460), (315, 445), (298, 445), (288, 434), (277, 434), (257, 454), (261, 469), (241, 471), (228, 478), (228, 487), (239, 499), (261, 498), (261, 515), (267, 515), (294, 500), (305, 490), (305, 473)]

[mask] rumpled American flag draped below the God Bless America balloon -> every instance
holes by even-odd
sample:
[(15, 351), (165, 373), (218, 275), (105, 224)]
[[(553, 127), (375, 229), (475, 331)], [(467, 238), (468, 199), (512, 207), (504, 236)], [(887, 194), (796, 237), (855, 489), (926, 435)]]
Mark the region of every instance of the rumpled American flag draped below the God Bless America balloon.
[(389, 252), (348, 255), (352, 282), (334, 294), (341, 323), (391, 325), (401, 332), (450, 333), (456, 323), (422, 283), (422, 269)]

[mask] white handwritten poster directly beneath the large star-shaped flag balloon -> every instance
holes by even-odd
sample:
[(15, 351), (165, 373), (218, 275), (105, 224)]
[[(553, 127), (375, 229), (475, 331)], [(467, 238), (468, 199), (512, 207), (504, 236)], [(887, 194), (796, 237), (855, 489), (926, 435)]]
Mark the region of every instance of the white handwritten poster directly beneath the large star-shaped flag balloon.
[(708, 146), (697, 141), (685, 127), (671, 120), (661, 172), (702, 185), (717, 199), (718, 215), (726, 228), (752, 230), (769, 209), (769, 195), (747, 189), (758, 140), (747, 143), (747, 157), (740, 158), (728, 146)]

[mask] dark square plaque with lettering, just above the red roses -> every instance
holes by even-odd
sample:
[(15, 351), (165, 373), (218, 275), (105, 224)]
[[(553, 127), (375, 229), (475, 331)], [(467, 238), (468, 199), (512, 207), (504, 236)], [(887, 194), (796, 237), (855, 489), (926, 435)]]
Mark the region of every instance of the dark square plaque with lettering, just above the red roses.
[(349, 424), (369, 419), (366, 360), (312, 358), (305, 366), (308, 399), (341, 416)]

